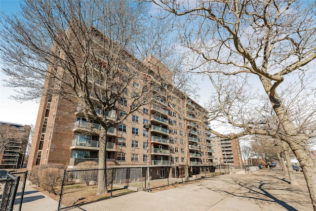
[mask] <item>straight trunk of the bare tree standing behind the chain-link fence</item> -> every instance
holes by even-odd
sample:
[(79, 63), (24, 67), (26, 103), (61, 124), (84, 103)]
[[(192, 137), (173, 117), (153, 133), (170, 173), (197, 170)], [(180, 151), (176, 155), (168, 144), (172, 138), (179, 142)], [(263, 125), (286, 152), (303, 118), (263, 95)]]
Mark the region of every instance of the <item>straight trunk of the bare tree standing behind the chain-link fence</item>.
[(99, 134), (99, 170), (98, 172), (98, 191), (97, 195), (104, 195), (108, 193), (107, 187), (107, 158), (106, 158), (106, 134), (107, 129), (101, 128)]

